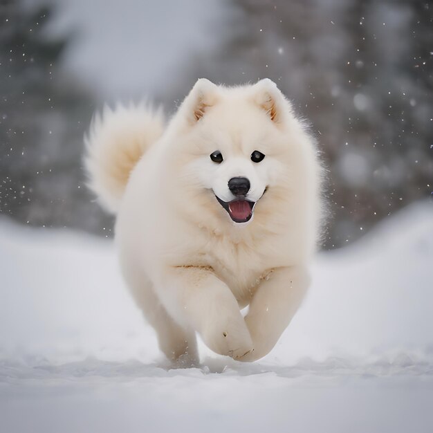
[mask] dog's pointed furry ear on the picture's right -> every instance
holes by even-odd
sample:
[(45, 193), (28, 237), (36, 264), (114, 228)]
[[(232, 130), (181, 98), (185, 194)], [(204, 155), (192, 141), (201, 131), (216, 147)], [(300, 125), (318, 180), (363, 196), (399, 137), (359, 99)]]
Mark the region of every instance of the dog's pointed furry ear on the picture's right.
[(254, 86), (254, 100), (261, 109), (266, 111), (270, 120), (275, 123), (281, 123), (284, 117), (284, 104), (286, 100), (279, 91), (277, 84), (269, 78), (260, 80)]

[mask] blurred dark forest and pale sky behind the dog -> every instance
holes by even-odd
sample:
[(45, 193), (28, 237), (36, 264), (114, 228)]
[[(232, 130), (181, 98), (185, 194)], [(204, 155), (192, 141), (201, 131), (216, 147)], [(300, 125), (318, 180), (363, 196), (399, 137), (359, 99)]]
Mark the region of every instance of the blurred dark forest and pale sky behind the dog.
[(432, 194), (432, 20), (418, 0), (0, 0), (0, 213), (111, 237), (82, 170), (94, 111), (270, 77), (327, 167), (322, 248), (351, 243)]

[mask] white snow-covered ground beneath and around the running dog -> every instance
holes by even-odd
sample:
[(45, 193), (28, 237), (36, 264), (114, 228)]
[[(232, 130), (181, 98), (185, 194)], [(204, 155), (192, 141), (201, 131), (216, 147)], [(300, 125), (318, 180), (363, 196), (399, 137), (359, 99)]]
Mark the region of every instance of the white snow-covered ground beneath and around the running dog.
[(111, 241), (0, 219), (1, 432), (432, 432), (433, 204), (318, 255), (277, 347), (158, 353)]

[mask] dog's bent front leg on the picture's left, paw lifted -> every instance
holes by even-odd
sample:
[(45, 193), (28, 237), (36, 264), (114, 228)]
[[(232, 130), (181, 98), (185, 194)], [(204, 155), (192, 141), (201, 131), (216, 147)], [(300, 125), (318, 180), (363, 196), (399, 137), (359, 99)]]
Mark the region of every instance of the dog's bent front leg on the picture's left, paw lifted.
[(163, 273), (161, 300), (183, 326), (198, 331), (205, 344), (234, 359), (252, 349), (252, 340), (230, 288), (211, 270), (184, 266)]

